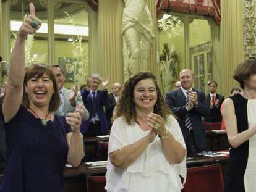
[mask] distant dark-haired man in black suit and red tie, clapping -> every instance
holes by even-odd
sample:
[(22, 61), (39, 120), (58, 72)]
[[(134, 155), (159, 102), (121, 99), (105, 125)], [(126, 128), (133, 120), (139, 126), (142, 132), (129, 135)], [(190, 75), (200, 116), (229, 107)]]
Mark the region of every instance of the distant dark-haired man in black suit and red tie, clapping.
[(206, 102), (210, 107), (210, 115), (205, 117), (205, 122), (216, 123), (221, 122), (221, 104), (224, 101), (224, 96), (217, 93), (218, 83), (216, 81), (209, 81), (208, 82), (209, 91), (205, 96)]

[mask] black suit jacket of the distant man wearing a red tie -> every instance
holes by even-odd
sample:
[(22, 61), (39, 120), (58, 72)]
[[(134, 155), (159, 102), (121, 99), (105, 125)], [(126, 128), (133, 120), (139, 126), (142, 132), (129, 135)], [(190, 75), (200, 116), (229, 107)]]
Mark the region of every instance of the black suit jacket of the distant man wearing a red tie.
[[(217, 99), (219, 99), (218, 107), (213, 106), (212, 108), (210, 108), (210, 115), (205, 117), (205, 122), (215, 123), (215, 122), (221, 122), (222, 121), (222, 116), (221, 116), (220, 108), (221, 108), (221, 104), (224, 101), (224, 96), (222, 96), (221, 94), (217, 93), (215, 101)], [(206, 103), (208, 104), (208, 106), (210, 107), (210, 102), (211, 102), (210, 93), (205, 96), (205, 100), (206, 100)]]

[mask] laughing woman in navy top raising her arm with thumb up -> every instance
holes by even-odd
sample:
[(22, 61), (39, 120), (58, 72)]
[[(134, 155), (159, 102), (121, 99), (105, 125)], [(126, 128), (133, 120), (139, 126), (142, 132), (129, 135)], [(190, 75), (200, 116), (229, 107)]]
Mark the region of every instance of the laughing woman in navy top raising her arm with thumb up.
[(2, 107), (6, 123), (7, 165), (0, 191), (63, 191), (66, 162), (78, 166), (81, 109), (64, 117), (53, 115), (60, 98), (56, 79), (47, 65), (25, 70), (25, 40), (40, 28), (30, 3), (10, 59), (9, 81)]

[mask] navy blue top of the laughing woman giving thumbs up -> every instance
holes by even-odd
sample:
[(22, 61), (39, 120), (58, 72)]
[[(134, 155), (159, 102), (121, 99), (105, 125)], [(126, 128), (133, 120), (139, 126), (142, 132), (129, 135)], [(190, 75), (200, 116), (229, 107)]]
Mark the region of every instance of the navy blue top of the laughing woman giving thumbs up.
[(6, 123), (7, 164), (0, 191), (63, 191), (70, 131), (64, 117), (54, 115), (43, 127), (40, 119), (20, 106)]

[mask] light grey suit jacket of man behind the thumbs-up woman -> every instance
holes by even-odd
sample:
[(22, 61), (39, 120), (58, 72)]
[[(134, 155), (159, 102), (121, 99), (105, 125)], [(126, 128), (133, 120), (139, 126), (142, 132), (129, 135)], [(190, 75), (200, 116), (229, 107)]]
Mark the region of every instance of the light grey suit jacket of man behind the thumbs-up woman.
[[(89, 118), (89, 112), (87, 111), (87, 109), (85, 108), (84, 104), (83, 104), (83, 99), (81, 96), (80, 91), (78, 91), (77, 96), (75, 98), (75, 106), (72, 106), (70, 101), (69, 101), (69, 94), (72, 90), (63, 89), (63, 100), (64, 100), (64, 115), (66, 116), (69, 112), (74, 112), (75, 111), (75, 107), (78, 106), (78, 104), (81, 104), (83, 106), (83, 115), (82, 115), (82, 120), (87, 120)], [(56, 112), (54, 112), (54, 114), (56, 115), (61, 115), (61, 112), (59, 111), (59, 109), (57, 109)]]

